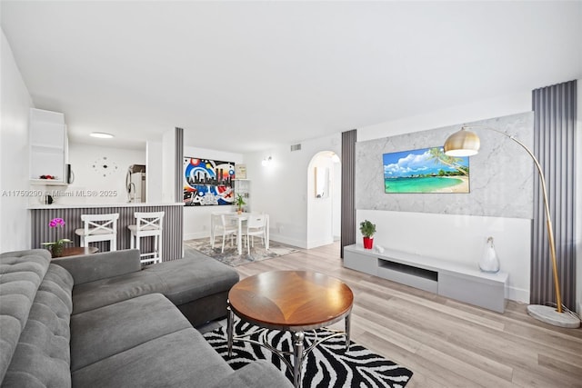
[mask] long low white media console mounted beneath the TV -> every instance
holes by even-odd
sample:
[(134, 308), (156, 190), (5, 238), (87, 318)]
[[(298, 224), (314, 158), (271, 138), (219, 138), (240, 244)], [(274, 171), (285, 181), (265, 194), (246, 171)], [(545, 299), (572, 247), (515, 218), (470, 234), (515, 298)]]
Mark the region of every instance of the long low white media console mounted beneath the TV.
[(361, 245), (344, 248), (344, 266), (498, 313), (505, 311), (508, 274), (504, 272), (487, 274), (478, 268), (390, 249), (380, 254)]

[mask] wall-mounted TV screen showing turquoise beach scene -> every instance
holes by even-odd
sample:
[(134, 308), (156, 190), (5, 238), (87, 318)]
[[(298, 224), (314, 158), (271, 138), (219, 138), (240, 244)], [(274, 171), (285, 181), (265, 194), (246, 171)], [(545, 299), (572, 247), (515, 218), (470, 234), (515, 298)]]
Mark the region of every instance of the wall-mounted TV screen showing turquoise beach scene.
[(469, 158), (443, 147), (383, 154), (386, 193), (469, 193)]

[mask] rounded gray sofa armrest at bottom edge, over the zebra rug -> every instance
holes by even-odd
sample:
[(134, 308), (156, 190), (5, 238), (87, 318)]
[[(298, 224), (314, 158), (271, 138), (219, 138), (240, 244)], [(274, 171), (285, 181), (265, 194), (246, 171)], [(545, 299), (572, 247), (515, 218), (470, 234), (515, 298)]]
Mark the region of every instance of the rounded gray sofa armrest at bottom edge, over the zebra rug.
[(245, 367), (226, 375), (214, 384), (215, 388), (287, 388), (293, 384), (287, 380), (285, 374), (265, 360), (257, 360)]

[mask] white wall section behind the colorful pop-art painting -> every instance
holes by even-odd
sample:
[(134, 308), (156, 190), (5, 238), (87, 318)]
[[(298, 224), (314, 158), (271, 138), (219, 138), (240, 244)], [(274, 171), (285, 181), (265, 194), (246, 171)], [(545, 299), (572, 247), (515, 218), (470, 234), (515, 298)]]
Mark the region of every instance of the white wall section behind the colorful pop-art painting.
[[(214, 159), (225, 162), (234, 162), (235, 164), (245, 163), (243, 154), (227, 153), (224, 151), (211, 150), (206, 148), (196, 148), (184, 146), (184, 157), (196, 157), (200, 159)], [(251, 179), (251, 187), (254, 182), (253, 177), (247, 174)], [(251, 195), (248, 201), (251, 209), (254, 203)], [(210, 214), (234, 212), (235, 206), (184, 206), (184, 239), (203, 238), (210, 235)]]

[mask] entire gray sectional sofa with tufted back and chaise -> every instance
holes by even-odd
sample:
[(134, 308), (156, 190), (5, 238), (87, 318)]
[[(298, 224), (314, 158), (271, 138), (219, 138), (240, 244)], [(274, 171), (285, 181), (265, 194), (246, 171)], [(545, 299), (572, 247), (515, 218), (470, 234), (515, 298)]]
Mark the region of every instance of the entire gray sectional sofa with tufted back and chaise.
[(139, 253), (0, 254), (2, 387), (287, 387), (233, 371), (192, 324), (225, 315), (236, 271), (207, 257), (141, 269)]

